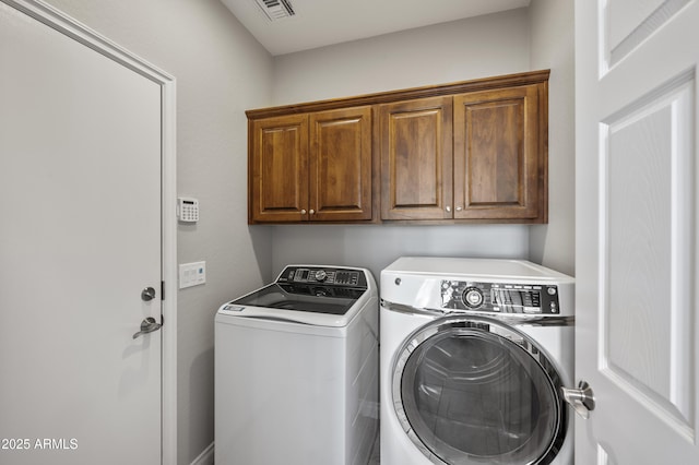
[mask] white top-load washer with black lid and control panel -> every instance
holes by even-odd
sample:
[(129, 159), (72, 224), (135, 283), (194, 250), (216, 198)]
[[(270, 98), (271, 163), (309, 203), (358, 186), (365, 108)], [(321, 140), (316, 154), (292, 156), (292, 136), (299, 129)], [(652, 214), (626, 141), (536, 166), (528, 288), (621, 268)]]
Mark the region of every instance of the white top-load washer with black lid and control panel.
[(368, 270), (288, 265), (215, 318), (216, 465), (366, 464), (378, 434)]

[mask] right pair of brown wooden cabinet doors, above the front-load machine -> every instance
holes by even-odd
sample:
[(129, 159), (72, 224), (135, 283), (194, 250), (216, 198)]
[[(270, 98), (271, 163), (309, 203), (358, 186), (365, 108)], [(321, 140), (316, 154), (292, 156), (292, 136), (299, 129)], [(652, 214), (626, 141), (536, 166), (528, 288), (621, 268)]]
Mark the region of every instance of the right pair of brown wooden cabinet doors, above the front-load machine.
[(546, 87), (379, 109), (381, 219), (545, 223)]

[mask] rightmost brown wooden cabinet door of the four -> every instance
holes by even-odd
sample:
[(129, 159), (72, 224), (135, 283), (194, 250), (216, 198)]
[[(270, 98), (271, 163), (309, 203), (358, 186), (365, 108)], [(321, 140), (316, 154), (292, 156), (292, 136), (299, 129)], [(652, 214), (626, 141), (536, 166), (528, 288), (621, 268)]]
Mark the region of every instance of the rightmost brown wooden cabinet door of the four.
[(454, 217), (546, 220), (547, 87), (454, 96)]

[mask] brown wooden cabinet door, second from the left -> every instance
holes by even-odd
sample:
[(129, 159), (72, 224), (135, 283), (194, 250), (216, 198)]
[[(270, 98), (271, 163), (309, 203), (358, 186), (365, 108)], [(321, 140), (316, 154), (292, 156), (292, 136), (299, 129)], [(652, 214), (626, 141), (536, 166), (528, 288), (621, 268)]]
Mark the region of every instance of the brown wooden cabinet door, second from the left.
[(371, 219), (371, 107), (310, 115), (310, 219)]

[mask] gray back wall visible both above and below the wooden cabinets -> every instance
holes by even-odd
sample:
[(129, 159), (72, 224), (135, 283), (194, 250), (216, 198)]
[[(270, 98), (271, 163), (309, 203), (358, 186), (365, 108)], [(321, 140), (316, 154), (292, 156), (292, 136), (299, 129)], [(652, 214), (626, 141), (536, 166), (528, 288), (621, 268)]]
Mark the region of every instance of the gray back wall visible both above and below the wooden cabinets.
[[(530, 70), (530, 16), (519, 9), (276, 57), (274, 104)], [(529, 257), (530, 228), (522, 225), (271, 228), (275, 272), (322, 262), (366, 266), (378, 281), (401, 255)]]

